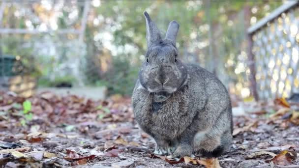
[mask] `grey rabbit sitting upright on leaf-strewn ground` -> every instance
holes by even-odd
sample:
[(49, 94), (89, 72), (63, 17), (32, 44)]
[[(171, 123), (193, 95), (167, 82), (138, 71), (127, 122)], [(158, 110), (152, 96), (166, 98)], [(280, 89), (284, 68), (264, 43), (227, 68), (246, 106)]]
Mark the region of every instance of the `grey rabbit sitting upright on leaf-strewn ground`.
[(155, 154), (219, 157), (229, 148), (233, 129), (225, 86), (206, 69), (179, 60), (176, 21), (162, 39), (144, 15), (148, 51), (132, 96), (136, 121), (156, 141)]

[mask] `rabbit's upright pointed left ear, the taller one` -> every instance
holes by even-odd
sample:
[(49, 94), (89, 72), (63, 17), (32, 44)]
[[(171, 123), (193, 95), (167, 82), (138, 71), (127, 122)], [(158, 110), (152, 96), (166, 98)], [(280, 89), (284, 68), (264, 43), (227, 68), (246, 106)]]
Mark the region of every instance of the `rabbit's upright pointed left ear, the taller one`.
[(147, 43), (149, 48), (152, 44), (161, 41), (161, 34), (156, 24), (150, 19), (147, 11), (144, 12), (144, 16), (146, 17), (147, 22)]

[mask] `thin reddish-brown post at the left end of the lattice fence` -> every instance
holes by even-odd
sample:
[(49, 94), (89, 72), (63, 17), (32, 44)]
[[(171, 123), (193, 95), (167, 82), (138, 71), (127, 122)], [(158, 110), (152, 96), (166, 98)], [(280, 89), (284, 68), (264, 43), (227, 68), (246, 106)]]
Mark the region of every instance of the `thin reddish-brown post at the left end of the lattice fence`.
[[(246, 29), (250, 27), (250, 18), (251, 18), (251, 13), (250, 13), (250, 7), (246, 5), (244, 7), (244, 18), (246, 22)], [(253, 47), (253, 40), (252, 40), (252, 34), (253, 33), (247, 33), (246, 31), (246, 38), (247, 38), (247, 56), (248, 56), (248, 63), (247, 65), (249, 66), (250, 70), (250, 75), (249, 75), (249, 82), (250, 82), (250, 92), (251, 95), (254, 97), (256, 101), (259, 100), (259, 95), (257, 92), (257, 84), (256, 84), (256, 79), (255, 79), (255, 74), (256, 74), (256, 69), (255, 69), (255, 57), (252, 54), (252, 47)]]

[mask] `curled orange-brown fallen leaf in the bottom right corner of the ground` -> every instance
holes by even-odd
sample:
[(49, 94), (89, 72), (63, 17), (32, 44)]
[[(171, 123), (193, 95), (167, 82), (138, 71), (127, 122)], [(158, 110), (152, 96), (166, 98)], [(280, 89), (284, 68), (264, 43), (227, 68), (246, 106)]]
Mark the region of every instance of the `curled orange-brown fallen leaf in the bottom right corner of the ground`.
[(295, 151), (283, 150), (274, 158), (266, 161), (266, 162), (273, 162), (275, 165), (292, 165), (292, 162), (297, 159), (297, 153)]

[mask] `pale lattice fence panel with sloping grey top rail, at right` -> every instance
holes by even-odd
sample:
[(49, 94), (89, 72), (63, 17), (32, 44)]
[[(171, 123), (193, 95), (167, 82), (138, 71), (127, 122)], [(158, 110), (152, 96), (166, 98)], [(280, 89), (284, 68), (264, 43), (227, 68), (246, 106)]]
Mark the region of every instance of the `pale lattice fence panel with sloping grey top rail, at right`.
[(298, 0), (284, 4), (248, 29), (254, 56), (251, 89), (260, 99), (299, 92), (298, 4)]

